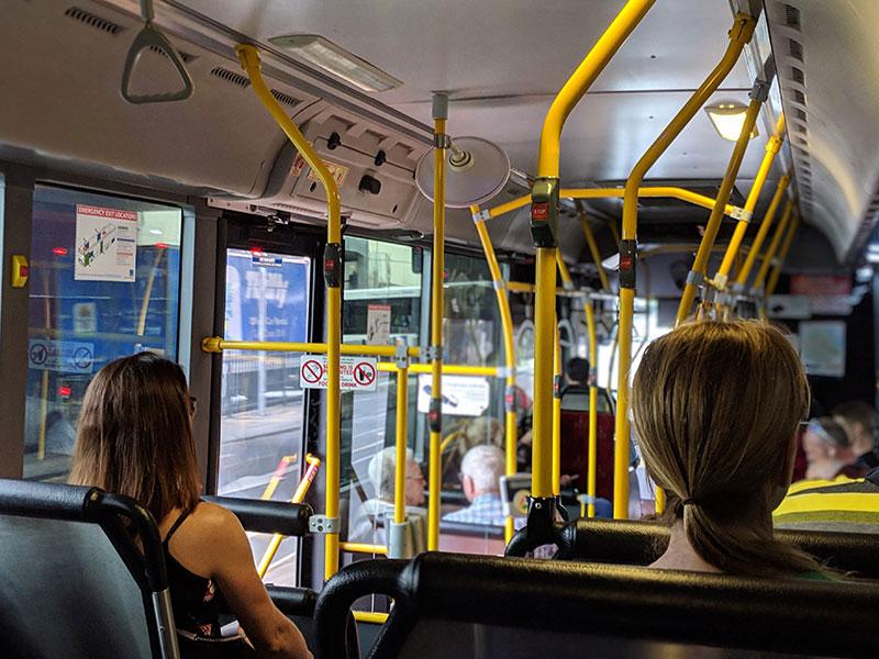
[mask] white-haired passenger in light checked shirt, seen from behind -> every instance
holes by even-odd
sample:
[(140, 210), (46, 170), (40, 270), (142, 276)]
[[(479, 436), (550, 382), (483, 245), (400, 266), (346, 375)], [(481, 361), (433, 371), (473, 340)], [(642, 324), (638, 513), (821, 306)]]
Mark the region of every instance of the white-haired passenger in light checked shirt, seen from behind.
[(503, 451), (497, 446), (474, 446), (460, 463), (464, 495), (470, 502), (465, 509), (443, 516), (446, 522), (503, 526), (503, 502), (500, 479), (504, 473)]

